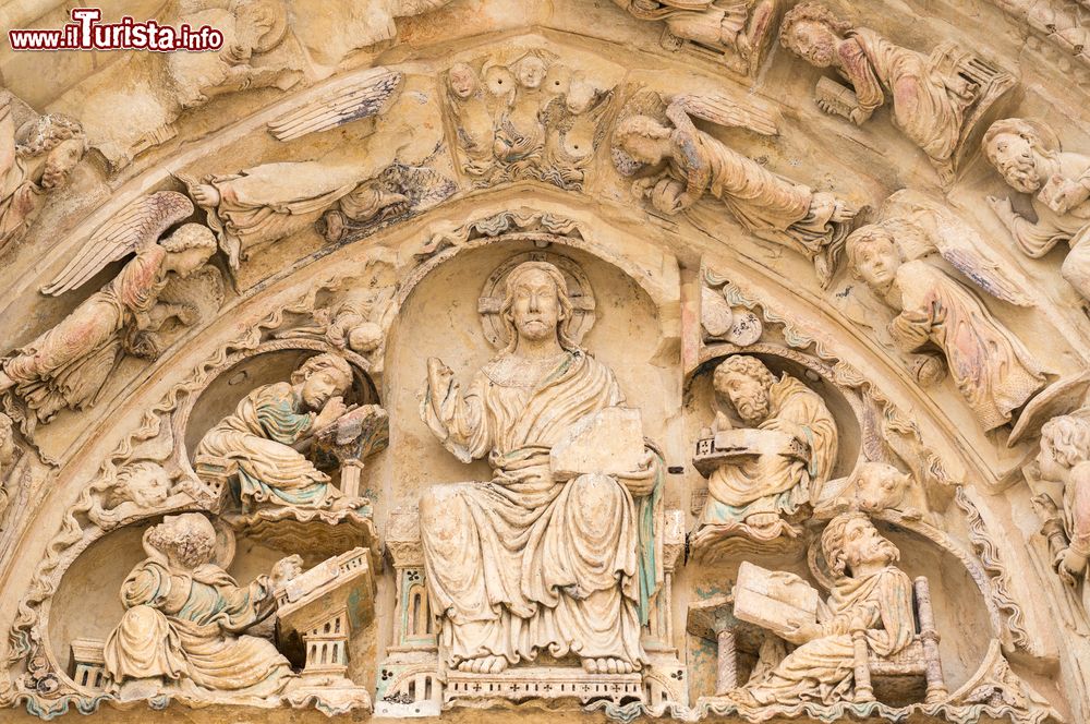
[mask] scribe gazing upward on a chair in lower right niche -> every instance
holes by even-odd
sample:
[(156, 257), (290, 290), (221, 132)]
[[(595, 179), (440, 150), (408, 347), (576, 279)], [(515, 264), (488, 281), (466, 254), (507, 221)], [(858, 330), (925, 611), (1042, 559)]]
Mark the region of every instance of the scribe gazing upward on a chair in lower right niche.
[[(731, 692), (746, 707), (832, 704), (852, 700), (852, 632), (864, 631), (870, 651), (892, 656), (916, 634), (912, 582), (894, 566), (897, 547), (879, 534), (862, 512), (834, 518), (821, 538), (822, 553), (836, 583), (819, 603), (816, 620), (785, 622), (777, 635), (799, 648)], [(736, 612), (737, 613), (737, 612)]]

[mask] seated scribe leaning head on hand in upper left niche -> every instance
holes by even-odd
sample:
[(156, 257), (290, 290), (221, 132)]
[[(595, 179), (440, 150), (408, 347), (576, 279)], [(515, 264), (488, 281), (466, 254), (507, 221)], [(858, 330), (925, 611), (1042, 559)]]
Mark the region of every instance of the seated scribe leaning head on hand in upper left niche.
[(198, 474), (203, 469), (237, 469), (244, 506), (343, 509), (366, 504), (342, 496), (329, 475), (292, 447), (348, 411), (342, 396), (351, 386), (348, 362), (318, 354), (293, 372), (290, 383), (258, 387), (205, 434), (195, 455)]

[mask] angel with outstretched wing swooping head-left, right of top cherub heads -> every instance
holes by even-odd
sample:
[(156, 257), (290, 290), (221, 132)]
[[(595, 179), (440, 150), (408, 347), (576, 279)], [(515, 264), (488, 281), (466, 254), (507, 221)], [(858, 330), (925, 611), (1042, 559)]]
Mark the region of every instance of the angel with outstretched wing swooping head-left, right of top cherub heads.
[(764, 111), (725, 97), (676, 96), (666, 104), (654, 92), (633, 96), (614, 131), (614, 165), (633, 176), (632, 193), (667, 215), (703, 195), (718, 198), (747, 231), (801, 252), (828, 283), (857, 209), (831, 193), (811, 191), (699, 130), (692, 118), (776, 135)]

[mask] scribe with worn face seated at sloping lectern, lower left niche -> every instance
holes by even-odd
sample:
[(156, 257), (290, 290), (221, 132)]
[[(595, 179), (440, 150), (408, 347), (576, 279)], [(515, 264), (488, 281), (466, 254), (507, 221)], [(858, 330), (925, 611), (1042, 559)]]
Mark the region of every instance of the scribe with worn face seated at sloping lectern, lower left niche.
[(121, 587), (125, 614), (106, 641), (106, 671), (122, 698), (161, 689), (271, 697), (294, 679), (271, 642), (245, 636), (276, 608), (274, 590), (300, 571), (280, 560), (272, 576), (239, 586), (213, 562), (216, 530), (201, 514), (168, 516), (144, 533), (147, 558)]

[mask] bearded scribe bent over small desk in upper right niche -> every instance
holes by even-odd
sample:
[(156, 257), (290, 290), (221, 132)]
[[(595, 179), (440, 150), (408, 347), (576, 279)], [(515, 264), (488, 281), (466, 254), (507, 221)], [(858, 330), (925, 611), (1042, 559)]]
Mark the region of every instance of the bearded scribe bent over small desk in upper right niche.
[[(731, 437), (738, 445), (708, 478), (703, 526), (693, 544), (724, 534), (759, 541), (795, 535), (791, 522), (810, 510), (833, 472), (832, 413), (812, 389), (787, 374), (777, 379), (753, 357), (724, 360), (713, 385), (748, 427), (731, 431), (727, 415), (716, 414), (716, 442)], [(723, 435), (726, 431), (730, 434)]]

